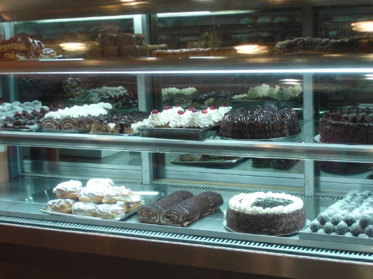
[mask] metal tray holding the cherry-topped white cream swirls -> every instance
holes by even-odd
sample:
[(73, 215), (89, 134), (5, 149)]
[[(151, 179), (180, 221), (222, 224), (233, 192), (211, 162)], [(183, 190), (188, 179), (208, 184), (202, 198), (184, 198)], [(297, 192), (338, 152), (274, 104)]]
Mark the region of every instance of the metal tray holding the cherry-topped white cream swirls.
[(220, 123), (206, 128), (148, 128), (146, 126), (138, 127), (141, 136), (145, 137), (164, 137), (177, 138), (180, 140), (203, 140), (214, 136), (219, 129)]

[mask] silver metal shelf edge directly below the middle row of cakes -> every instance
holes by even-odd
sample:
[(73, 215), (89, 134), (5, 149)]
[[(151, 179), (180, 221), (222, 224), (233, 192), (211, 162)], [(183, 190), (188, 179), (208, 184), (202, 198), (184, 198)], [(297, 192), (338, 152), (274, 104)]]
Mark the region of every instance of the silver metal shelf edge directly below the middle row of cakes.
[(111, 136), (46, 132), (0, 132), (0, 144), (50, 148), (103, 149), (158, 153), (191, 153), (325, 161), (371, 161), (373, 146), (275, 143), (224, 140), (167, 140), (140, 136)]

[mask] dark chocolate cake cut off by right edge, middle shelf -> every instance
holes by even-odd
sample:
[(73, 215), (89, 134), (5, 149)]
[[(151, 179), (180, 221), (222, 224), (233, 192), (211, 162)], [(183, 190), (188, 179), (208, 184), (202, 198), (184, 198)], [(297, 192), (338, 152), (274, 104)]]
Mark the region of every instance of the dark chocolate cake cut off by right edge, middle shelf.
[(331, 110), (324, 114), (320, 140), (330, 144), (373, 144), (373, 112), (369, 108)]

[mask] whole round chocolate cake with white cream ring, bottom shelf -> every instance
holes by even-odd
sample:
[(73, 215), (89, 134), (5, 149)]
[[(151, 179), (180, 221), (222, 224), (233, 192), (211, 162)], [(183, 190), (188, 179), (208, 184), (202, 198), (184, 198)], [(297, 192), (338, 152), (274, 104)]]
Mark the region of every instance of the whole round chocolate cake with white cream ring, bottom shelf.
[(239, 233), (288, 235), (305, 225), (306, 214), (299, 197), (272, 192), (238, 194), (231, 198), (227, 226)]

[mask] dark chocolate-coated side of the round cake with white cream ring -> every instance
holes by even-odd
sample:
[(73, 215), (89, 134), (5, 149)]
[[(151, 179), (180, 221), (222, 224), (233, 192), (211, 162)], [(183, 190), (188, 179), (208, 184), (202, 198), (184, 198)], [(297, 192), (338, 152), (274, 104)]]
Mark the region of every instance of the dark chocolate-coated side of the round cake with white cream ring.
[(306, 223), (304, 208), (281, 214), (247, 214), (228, 206), (228, 227), (239, 233), (287, 235), (299, 232)]

